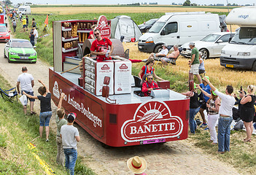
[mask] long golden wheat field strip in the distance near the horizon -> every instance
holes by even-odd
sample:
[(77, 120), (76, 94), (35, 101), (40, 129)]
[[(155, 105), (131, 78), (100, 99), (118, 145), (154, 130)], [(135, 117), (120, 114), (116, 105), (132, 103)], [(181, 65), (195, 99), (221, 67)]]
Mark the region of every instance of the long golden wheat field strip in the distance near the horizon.
[(79, 13), (139, 13), (139, 12), (228, 12), (228, 9), (185, 7), (32, 7), (32, 13), (74, 15)]

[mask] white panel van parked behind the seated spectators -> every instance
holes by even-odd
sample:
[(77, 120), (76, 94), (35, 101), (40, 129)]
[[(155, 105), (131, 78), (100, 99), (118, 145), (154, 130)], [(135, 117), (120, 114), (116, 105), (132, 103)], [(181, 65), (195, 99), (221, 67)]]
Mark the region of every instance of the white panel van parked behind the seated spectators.
[(175, 12), (160, 17), (150, 30), (139, 38), (141, 52), (159, 52), (163, 43), (182, 45), (220, 31), (219, 15), (205, 12)]

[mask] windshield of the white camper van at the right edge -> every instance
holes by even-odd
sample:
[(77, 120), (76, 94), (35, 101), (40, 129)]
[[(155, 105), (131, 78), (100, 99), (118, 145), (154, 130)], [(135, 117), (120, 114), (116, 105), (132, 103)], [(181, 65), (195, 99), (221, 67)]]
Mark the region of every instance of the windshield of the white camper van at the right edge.
[(240, 28), (230, 43), (256, 45), (256, 28)]

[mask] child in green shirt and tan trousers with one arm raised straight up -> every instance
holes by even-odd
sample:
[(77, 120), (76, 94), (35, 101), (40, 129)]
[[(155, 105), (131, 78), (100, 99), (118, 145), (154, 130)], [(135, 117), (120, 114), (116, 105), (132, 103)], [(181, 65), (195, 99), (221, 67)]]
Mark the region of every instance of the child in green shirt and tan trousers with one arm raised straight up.
[(65, 109), (62, 106), (62, 101), (65, 94), (61, 93), (60, 101), (58, 102), (58, 109), (56, 114), (56, 124), (57, 124), (57, 136), (56, 136), (56, 143), (57, 143), (57, 156), (56, 156), (56, 163), (65, 166), (65, 155), (62, 145), (61, 139), (61, 127), (66, 125), (68, 122), (64, 119), (65, 116)]

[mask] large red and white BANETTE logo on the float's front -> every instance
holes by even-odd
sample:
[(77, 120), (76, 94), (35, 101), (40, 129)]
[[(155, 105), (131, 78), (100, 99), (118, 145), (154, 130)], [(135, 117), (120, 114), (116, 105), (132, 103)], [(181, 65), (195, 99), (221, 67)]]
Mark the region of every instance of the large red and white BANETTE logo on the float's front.
[(182, 119), (178, 116), (171, 116), (166, 103), (147, 101), (136, 109), (133, 120), (123, 123), (121, 135), (125, 141), (135, 142), (174, 138), (182, 131)]

